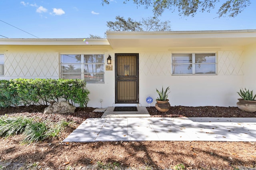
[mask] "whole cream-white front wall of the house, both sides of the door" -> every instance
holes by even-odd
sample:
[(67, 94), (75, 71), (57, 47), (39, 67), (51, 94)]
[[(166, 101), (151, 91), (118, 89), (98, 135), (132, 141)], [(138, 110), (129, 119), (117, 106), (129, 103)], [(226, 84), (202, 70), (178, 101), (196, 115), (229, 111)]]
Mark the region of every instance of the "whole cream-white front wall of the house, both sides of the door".
[[(217, 50), (218, 75), (171, 75), (171, 54), (168, 49), (111, 49), (90, 47), (90, 52), (104, 51), (105, 65), (108, 54), (112, 57), (112, 71), (105, 71), (104, 84), (87, 84), (90, 90), (88, 107), (110, 107), (115, 102), (115, 53), (139, 53), (139, 101), (148, 106), (148, 96), (158, 97), (156, 88), (170, 86), (170, 104), (183, 106), (236, 106), (236, 91), (244, 85), (254, 83), (252, 79), (256, 67), (256, 49), (250, 46), (246, 54), (242, 49)], [(5, 55), (5, 76), (0, 79), (14, 78), (59, 78), (60, 53), (85, 53), (84, 47), (38, 47), (28, 46), (8, 48)], [(58, 50), (57, 50), (58, 49)], [(177, 51), (176, 51), (177, 52)], [(194, 53), (195, 50), (186, 51)], [(206, 51), (207, 52), (207, 51)], [(212, 51), (211, 51), (212, 52)], [(250, 68), (250, 69), (249, 69)], [(244, 70), (243, 70), (244, 69)], [(253, 69), (253, 70), (251, 70)], [(246, 87), (247, 87), (246, 86)], [(252, 86), (250, 86), (252, 87)], [(254, 88), (256, 90), (256, 88)], [(100, 103), (102, 99), (102, 103)], [(150, 104), (154, 106), (155, 102)]]

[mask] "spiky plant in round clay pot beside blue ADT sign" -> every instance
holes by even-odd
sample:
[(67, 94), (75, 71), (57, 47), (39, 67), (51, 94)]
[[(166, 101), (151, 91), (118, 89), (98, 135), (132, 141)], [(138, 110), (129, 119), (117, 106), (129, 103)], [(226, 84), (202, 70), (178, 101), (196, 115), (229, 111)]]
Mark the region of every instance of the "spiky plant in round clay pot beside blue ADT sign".
[[(170, 109), (170, 103), (168, 98), (168, 94), (170, 93), (170, 88), (167, 87), (164, 91), (163, 87), (162, 87), (162, 91), (158, 91), (158, 89), (156, 89), (156, 92), (158, 93), (159, 97), (156, 99), (156, 110), (160, 111), (160, 112), (167, 112)], [(169, 92), (168, 92), (169, 91)]]

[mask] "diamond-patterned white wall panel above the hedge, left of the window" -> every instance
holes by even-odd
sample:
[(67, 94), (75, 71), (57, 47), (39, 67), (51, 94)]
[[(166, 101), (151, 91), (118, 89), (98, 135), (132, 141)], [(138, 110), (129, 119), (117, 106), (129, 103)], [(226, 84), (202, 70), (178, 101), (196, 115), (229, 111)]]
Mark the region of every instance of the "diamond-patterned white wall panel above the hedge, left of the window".
[(56, 78), (59, 76), (58, 53), (5, 53), (5, 76), (22, 78)]

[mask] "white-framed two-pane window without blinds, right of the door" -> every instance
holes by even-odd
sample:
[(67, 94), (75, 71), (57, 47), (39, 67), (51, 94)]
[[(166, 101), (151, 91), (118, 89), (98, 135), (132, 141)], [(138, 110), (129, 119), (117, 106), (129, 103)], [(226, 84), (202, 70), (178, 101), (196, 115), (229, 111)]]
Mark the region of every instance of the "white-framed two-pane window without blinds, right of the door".
[(216, 53), (173, 53), (172, 75), (216, 75)]

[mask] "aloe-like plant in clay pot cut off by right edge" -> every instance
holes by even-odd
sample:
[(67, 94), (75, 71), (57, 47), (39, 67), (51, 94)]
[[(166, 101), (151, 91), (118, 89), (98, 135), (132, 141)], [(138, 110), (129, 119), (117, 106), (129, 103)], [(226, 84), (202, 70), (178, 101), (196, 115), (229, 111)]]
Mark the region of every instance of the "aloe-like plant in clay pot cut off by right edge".
[(256, 111), (256, 95), (253, 95), (253, 91), (240, 89), (240, 92), (237, 92), (242, 99), (238, 99), (239, 102), (236, 103), (237, 107), (242, 111), (255, 112)]

